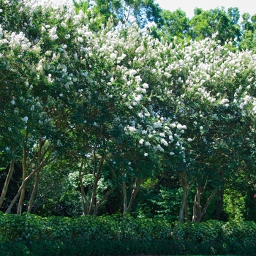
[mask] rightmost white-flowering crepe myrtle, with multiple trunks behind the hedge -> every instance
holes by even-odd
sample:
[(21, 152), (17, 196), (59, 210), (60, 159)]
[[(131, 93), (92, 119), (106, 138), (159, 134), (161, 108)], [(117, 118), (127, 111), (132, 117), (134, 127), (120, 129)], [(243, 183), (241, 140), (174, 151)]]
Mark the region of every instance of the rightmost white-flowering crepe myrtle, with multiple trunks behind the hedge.
[[(202, 170), (209, 170), (209, 167), (211, 170), (214, 168), (213, 177), (219, 178), (217, 170), (221, 169), (225, 173), (229, 171), (232, 173), (234, 168), (231, 164), (223, 166), (223, 161), (218, 161), (217, 154), (212, 152), (220, 150), (223, 157), (225, 154), (222, 148), (224, 143), (228, 152), (226, 160), (234, 161), (232, 152), (236, 151), (236, 156), (239, 155), (239, 149), (234, 145), (236, 144), (234, 141), (240, 143), (238, 135), (244, 132), (244, 136), (248, 136), (250, 130), (254, 129), (253, 127), (240, 129), (237, 124), (246, 127), (243, 116), (248, 116), (255, 111), (255, 98), (253, 97), (255, 94), (255, 56), (249, 51), (233, 52), (232, 42), (221, 46), (212, 39), (204, 39), (200, 42), (191, 41), (184, 48), (178, 45), (173, 49), (174, 51), (175, 56), (170, 51), (173, 58), (170, 58), (170, 64), (167, 64), (167, 68), (171, 69), (170, 86), (166, 85), (162, 89), (162, 91), (167, 91), (168, 95), (165, 107), (172, 109), (172, 106), (178, 106), (176, 110), (173, 109), (177, 121), (184, 122), (188, 127), (184, 135), (184, 137), (188, 136), (187, 140), (190, 142), (187, 158), (184, 159), (187, 162), (187, 167), (189, 168), (197, 159), (206, 159), (202, 165), (203, 169), (195, 170), (191, 176), (197, 182), (197, 189), (199, 187), (202, 189), (199, 189), (198, 195), (203, 195), (202, 192), (206, 189), (205, 185), (208, 181), (203, 181), (206, 182), (205, 185), (198, 182), (198, 177), (205, 176)], [(165, 96), (165, 94), (163, 95)], [(170, 102), (176, 102), (176, 104), (170, 105)], [(247, 105), (251, 106), (250, 110), (245, 108)], [(229, 129), (224, 129), (224, 127), (229, 127)], [(234, 129), (234, 132), (231, 133), (232, 136), (230, 135), (231, 127)], [(232, 139), (225, 139), (229, 136)], [(195, 141), (201, 145), (199, 150)], [(220, 141), (223, 143), (219, 143)], [(202, 146), (203, 148), (201, 148)], [(211, 156), (215, 156), (215, 162)], [(195, 165), (195, 167), (199, 166)], [(190, 189), (192, 183), (187, 178), (187, 172), (180, 174), (185, 175), (181, 180), (182, 187)], [(208, 175), (207, 171), (206, 175)], [(186, 181), (186, 186), (184, 186), (184, 181)], [(218, 189), (217, 184), (215, 184), (209, 200), (213, 199), (216, 189)], [(187, 194), (187, 192), (185, 193)], [(196, 197), (195, 203), (200, 205), (198, 200), (199, 197)], [(207, 205), (208, 200), (206, 201)], [(184, 206), (184, 202), (182, 206)], [(180, 219), (183, 219), (182, 214)], [(197, 221), (200, 219), (201, 217)]]

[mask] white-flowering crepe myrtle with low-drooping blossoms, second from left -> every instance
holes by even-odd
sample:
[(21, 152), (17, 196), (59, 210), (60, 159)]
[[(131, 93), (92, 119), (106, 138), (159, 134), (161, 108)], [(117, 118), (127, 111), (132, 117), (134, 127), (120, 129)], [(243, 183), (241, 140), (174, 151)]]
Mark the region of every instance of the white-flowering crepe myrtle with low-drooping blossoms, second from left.
[[(121, 24), (114, 29), (107, 26), (98, 33), (82, 24), (75, 44), (78, 52), (73, 64), (77, 67), (78, 83), (73, 85), (76, 99), (70, 122), (74, 127), (72, 133), (80, 139), (77, 143), (83, 151), (80, 166), (83, 166), (86, 154), (97, 155), (93, 161), (99, 161), (89, 208), (89, 214), (92, 214), (103, 163), (119, 154), (119, 145), (124, 145), (120, 138), (129, 145), (129, 134), (135, 133), (137, 139), (140, 138), (138, 146), (145, 140), (150, 148), (149, 141), (156, 140), (154, 150), (165, 151), (161, 144), (169, 146), (164, 137), (172, 134), (170, 125), (173, 120), (162, 116), (159, 110), (156, 113), (151, 103), (151, 90), (154, 84), (161, 82), (146, 76), (152, 73), (149, 64), (157, 57), (154, 49), (154, 45), (159, 45), (157, 40), (140, 31), (135, 24), (129, 28)], [(154, 52), (144, 59), (148, 49)], [(146, 63), (148, 66), (143, 69)], [(62, 97), (64, 95), (66, 93)], [(186, 129), (186, 126), (178, 125), (180, 129)]]

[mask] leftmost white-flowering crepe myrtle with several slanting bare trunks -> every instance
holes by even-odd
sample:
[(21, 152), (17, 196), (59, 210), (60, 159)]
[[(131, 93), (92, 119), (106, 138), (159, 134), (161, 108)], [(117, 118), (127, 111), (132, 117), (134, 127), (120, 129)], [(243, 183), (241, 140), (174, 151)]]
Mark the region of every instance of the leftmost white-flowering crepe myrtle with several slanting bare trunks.
[[(55, 36), (54, 25), (49, 29), (50, 25), (39, 23), (42, 20), (37, 20), (37, 23), (32, 22), (40, 12), (45, 15), (44, 22), (48, 21), (51, 24), (53, 17), (56, 21), (56, 17), (59, 15), (54, 15), (54, 12), (56, 14), (57, 11), (50, 7), (39, 6), (34, 6), (31, 10), (31, 7), (28, 8), (29, 2), (18, 3), (15, 1), (15, 4), (20, 4), (20, 8), (24, 12), (26, 11), (24, 16), (30, 16), (31, 22), (23, 24), (21, 30), (24, 32), (8, 31), (8, 29), (12, 29), (9, 27), (12, 24), (11, 19), (16, 18), (20, 22), (20, 19), (24, 18), (20, 17), (18, 13), (9, 15), (10, 6), (13, 3), (4, 3), (4, 18), (1, 24), (1, 59), (3, 60), (1, 63), (4, 65), (5, 71), (2, 84), (6, 85), (4, 88), (6, 91), (10, 91), (9, 99), (5, 99), (7, 104), (5, 105), (6, 110), (2, 111), (2, 117), (4, 121), (7, 121), (6, 113), (8, 113), (13, 120), (13, 124), (10, 122), (9, 125), (3, 126), (3, 129), (8, 127), (7, 132), (9, 132), (5, 139), (9, 142), (5, 143), (4, 151), (10, 151), (10, 154), (23, 165), (22, 183), (7, 212), (10, 212), (15, 201), (20, 198), (18, 203), (18, 213), (20, 214), (28, 180), (32, 176), (36, 176), (28, 206), (28, 211), (31, 211), (38, 187), (39, 171), (63, 151), (63, 140), (69, 133), (67, 132), (67, 116), (69, 115), (67, 107), (69, 108), (69, 105), (56, 97), (56, 88), (59, 87), (59, 81), (66, 84), (70, 76), (64, 77), (59, 72), (55, 80), (51, 79), (51, 74), (48, 71), (50, 64), (45, 67), (43, 61), (47, 58), (50, 59), (50, 53), (53, 53), (51, 61), (54, 62), (59, 58), (58, 54), (61, 49), (58, 48), (59, 42), (56, 42), (59, 37)], [(50, 18), (48, 17), (49, 12)], [(61, 15), (61, 19), (68, 19), (70, 14), (68, 15), (65, 9), (62, 9), (62, 12), (65, 13)], [(48, 27), (48, 33), (43, 33), (44, 26)], [(14, 29), (18, 30), (19, 28), (14, 27)], [(34, 31), (40, 31), (37, 38), (34, 37)], [(63, 71), (64, 67), (61, 70)], [(56, 105), (59, 105), (59, 109), (56, 108)], [(64, 127), (67, 129), (63, 129)], [(16, 143), (15, 146), (14, 143)], [(10, 180), (11, 173), (10, 168), (7, 181)], [(4, 199), (7, 187), (8, 182), (4, 186), (1, 199)]]

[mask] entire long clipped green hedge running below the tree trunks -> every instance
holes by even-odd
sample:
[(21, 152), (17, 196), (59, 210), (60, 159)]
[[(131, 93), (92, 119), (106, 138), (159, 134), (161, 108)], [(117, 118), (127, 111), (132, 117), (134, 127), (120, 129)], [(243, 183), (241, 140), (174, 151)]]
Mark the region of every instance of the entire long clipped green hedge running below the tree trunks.
[(255, 255), (255, 222), (0, 213), (1, 255)]

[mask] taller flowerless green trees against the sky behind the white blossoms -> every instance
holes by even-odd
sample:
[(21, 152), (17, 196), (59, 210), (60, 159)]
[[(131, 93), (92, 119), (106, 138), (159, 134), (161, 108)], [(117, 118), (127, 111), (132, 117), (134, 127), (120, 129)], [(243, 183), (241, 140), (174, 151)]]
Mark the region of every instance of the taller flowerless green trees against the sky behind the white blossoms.
[(107, 23), (110, 17), (114, 24), (135, 20), (140, 28), (151, 24), (151, 35), (173, 42), (178, 39), (200, 40), (217, 33), (221, 44), (233, 41), (239, 50), (255, 51), (256, 14), (241, 13), (237, 7), (218, 7), (211, 10), (195, 8), (194, 16), (188, 18), (183, 10), (170, 12), (162, 10), (151, 1), (73, 1), (76, 10), (88, 12), (89, 8), (100, 15), (100, 23)]

